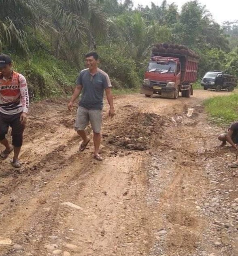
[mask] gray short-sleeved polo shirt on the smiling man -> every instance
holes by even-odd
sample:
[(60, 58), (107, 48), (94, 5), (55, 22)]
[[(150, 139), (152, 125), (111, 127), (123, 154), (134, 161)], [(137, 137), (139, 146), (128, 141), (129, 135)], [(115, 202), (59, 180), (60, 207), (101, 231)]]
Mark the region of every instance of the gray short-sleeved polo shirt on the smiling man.
[(92, 76), (87, 68), (79, 73), (76, 83), (83, 86), (79, 106), (85, 109), (102, 109), (104, 90), (112, 86), (107, 73), (98, 68), (98, 72)]

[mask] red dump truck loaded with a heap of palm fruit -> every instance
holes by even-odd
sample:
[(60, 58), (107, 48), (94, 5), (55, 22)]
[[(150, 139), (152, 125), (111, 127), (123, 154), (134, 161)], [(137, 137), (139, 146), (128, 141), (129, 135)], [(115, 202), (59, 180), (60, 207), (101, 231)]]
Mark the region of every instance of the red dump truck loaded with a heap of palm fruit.
[(193, 82), (197, 78), (199, 56), (187, 47), (173, 44), (157, 44), (152, 49), (141, 94), (150, 97), (159, 94), (166, 98), (193, 95)]

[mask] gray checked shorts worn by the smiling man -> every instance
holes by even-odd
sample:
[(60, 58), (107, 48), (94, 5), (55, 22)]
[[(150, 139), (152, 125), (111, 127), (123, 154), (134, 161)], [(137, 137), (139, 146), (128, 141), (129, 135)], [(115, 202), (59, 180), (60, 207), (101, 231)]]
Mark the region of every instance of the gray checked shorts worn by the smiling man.
[(92, 130), (96, 133), (101, 132), (102, 127), (102, 110), (100, 109), (85, 109), (79, 106), (77, 110), (77, 116), (75, 121), (74, 129), (85, 130), (89, 121), (92, 126)]

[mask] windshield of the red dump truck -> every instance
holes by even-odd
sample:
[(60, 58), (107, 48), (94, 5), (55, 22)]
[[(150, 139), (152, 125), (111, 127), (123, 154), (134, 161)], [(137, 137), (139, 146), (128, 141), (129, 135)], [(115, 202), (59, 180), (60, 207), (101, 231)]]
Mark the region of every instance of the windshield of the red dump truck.
[(149, 65), (147, 67), (148, 72), (159, 72), (161, 74), (164, 73), (175, 73), (176, 70), (176, 62), (170, 61), (168, 63), (161, 63), (155, 60), (150, 60)]

